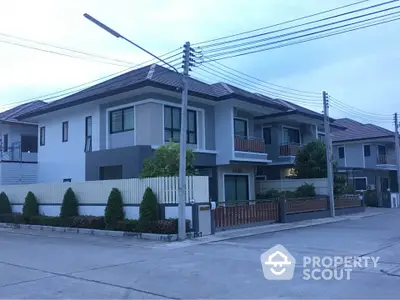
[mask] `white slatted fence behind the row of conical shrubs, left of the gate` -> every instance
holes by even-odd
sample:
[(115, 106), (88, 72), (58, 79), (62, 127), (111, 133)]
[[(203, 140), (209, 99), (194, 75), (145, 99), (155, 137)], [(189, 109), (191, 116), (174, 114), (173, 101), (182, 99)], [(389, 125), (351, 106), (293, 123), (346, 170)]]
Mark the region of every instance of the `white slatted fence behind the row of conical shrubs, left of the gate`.
[[(12, 204), (23, 204), (31, 191), (40, 204), (61, 204), (65, 191), (71, 187), (80, 204), (106, 204), (112, 188), (121, 191), (124, 204), (140, 204), (144, 191), (150, 187), (160, 204), (178, 203), (178, 178), (157, 177), (86, 181), (79, 183), (50, 183), (0, 186)], [(208, 202), (208, 177), (186, 177), (186, 201)]]

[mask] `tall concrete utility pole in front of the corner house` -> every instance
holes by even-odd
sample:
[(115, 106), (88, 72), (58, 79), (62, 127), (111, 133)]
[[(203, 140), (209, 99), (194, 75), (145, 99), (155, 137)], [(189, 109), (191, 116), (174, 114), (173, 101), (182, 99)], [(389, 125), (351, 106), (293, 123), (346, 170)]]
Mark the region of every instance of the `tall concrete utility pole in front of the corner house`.
[(190, 68), (190, 43), (186, 42), (183, 49), (183, 90), (181, 109), (181, 137), (179, 139), (179, 202), (178, 202), (178, 238), (186, 238), (186, 142), (187, 142), (187, 98), (188, 78)]

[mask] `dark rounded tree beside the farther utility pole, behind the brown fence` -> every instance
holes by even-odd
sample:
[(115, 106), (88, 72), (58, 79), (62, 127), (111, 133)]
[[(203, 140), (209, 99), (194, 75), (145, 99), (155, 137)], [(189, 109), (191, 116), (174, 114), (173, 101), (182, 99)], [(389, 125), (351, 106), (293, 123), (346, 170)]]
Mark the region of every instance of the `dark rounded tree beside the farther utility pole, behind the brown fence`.
[(326, 178), (325, 144), (316, 140), (305, 145), (297, 152), (294, 169), (298, 178)]

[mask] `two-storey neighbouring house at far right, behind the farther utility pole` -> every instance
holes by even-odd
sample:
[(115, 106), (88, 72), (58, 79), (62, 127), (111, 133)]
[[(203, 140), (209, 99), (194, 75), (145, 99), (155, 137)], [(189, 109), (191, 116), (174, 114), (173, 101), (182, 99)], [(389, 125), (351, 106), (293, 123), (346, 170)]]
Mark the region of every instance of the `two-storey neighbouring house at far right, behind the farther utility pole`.
[(376, 188), (397, 191), (397, 162), (394, 132), (351, 119), (338, 119), (346, 130), (333, 133), (333, 156), (338, 171), (346, 172), (356, 190)]

